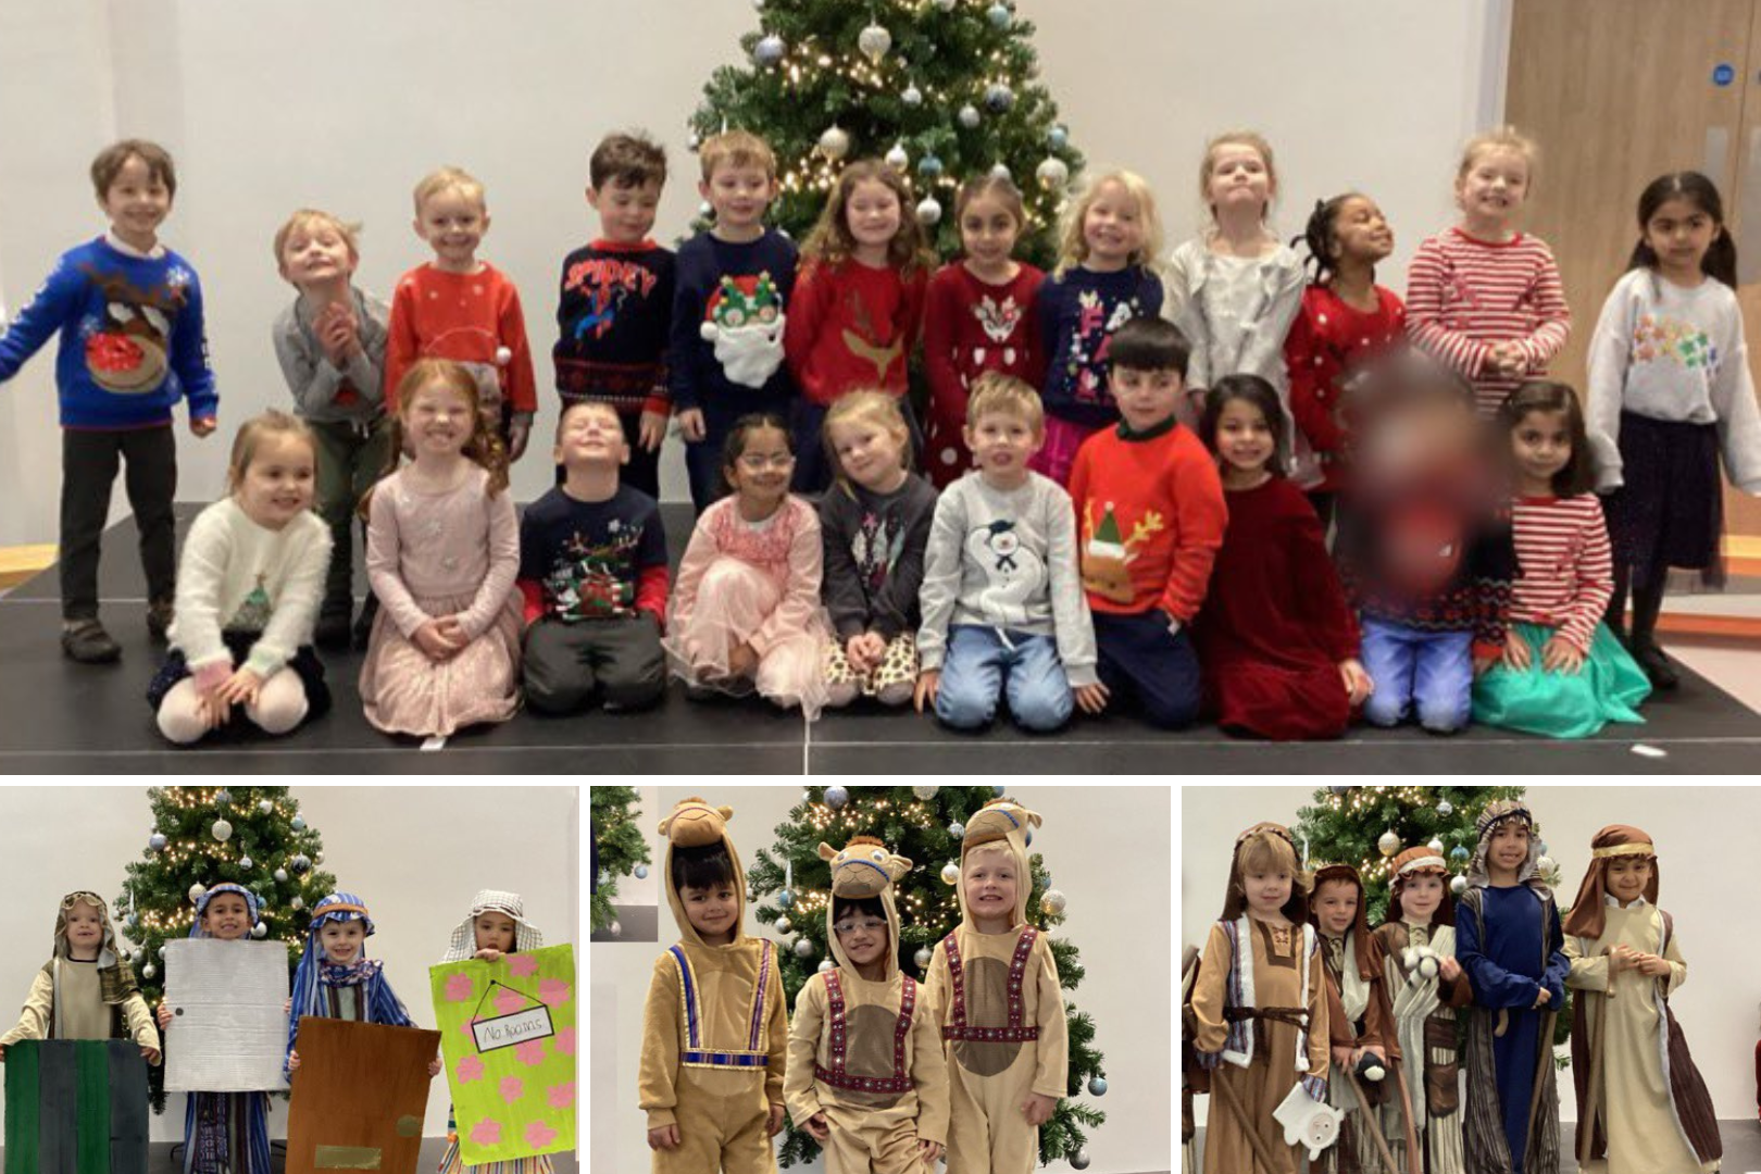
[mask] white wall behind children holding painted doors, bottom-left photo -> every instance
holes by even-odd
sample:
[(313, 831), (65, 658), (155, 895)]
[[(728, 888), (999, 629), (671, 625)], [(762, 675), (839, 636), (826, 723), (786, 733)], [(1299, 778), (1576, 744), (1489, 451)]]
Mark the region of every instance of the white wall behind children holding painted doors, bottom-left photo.
[[(326, 871), (373, 912), (368, 952), (386, 961), (417, 1024), (433, 1023), (428, 966), (440, 961), (479, 889), (519, 892), (544, 942), (574, 942), (579, 965), (576, 787), (294, 787), (291, 794), (324, 838)], [(151, 824), (144, 787), (0, 789), (0, 827), (9, 831), (0, 871), (9, 894), (0, 919), (9, 943), (0, 950), (7, 1016), (49, 958), (60, 898), (92, 889), (113, 901)], [(285, 1137), (287, 1102), (269, 1104), (269, 1135)], [(446, 1111), (442, 1075), (428, 1097), (424, 1135), (446, 1135)], [(183, 1139), (181, 1093), (167, 1097), (151, 1130), (153, 1141)]]

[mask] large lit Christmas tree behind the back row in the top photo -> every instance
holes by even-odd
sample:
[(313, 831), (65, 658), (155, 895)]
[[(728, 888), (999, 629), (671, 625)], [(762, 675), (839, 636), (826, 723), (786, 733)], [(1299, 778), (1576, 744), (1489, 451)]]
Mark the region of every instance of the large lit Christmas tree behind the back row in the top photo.
[[(777, 153), (771, 222), (805, 239), (847, 158), (903, 172), (940, 255), (960, 248), (954, 192), (1007, 171), (1027, 201), (1020, 255), (1050, 266), (1058, 204), (1083, 158), (1039, 74), (1034, 26), (1006, 0), (757, 0), (741, 37), (748, 65), (724, 65), (689, 120), (690, 146), (750, 130)], [(947, 215), (944, 215), (944, 209)]]

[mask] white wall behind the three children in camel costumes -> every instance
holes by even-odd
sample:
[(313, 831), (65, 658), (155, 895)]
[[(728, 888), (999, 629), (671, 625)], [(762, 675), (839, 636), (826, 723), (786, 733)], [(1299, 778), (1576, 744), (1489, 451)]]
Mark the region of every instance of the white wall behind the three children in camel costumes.
[[(775, 843), (775, 827), (787, 822), (801, 801), (798, 787), (734, 787), (713, 790), (660, 787), (660, 820), (687, 796), (734, 808), (729, 831), (741, 861)], [(1169, 982), (1160, 935), (1160, 894), (1168, 884), (1169, 790), (1166, 787), (1014, 787), (1027, 808), (1044, 817), (1034, 852), (1044, 855), (1053, 885), (1069, 898), (1069, 921), (1055, 936), (1081, 950), (1083, 984), (1071, 993), (1078, 1009), (1095, 1019), (1095, 1046), (1106, 1056), (1108, 1091), (1087, 1102), (1104, 1109), (1106, 1125), (1090, 1134), (1092, 1174), (1168, 1170), (1173, 1160), (1169, 1128), (1171, 1021)], [(650, 838), (657, 866), (664, 845)], [(939, 871), (944, 861), (917, 861)], [(655, 869), (659, 871), (659, 868)], [(759, 922), (748, 910), (747, 931)], [(636, 1107), (636, 1070), (641, 1054), (643, 1000), (655, 958), (678, 940), (671, 908), (662, 899), (660, 945), (595, 942), (592, 945), (592, 1144), (590, 1165), (634, 1170), (646, 1162), (646, 1118)], [(609, 1040), (609, 1044), (608, 1044)], [(812, 1165), (796, 1167), (822, 1169)], [(1069, 1169), (1055, 1162), (1051, 1170)]]

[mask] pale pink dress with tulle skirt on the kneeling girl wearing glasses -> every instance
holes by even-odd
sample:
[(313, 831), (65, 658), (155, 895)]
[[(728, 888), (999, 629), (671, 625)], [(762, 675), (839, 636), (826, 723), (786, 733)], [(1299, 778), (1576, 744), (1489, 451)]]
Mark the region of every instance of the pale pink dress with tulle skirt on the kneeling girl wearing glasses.
[(748, 642), (759, 655), (759, 693), (817, 718), (826, 704), (822, 558), (819, 514), (798, 496), (761, 523), (743, 521), (734, 496), (706, 509), (667, 605), (662, 646), (673, 674), (687, 685), (738, 693), (727, 681), (727, 651)]

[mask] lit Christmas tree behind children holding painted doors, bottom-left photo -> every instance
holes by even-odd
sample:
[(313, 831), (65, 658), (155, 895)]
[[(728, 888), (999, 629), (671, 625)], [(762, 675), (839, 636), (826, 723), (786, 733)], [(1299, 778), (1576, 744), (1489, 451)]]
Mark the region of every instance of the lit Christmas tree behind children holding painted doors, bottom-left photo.
[[(287, 787), (148, 787), (146, 801), (153, 827), (114, 910), (148, 1007), (166, 994), (166, 942), (188, 936), (195, 899), (222, 882), (257, 894), (261, 921), (250, 936), (285, 943), (292, 975), (310, 921), (301, 910), (336, 891), (336, 878), (319, 868), (324, 841), (299, 815), (299, 801)], [(151, 1068), (150, 1079), (153, 1105), (164, 1109), (164, 1068)]]

